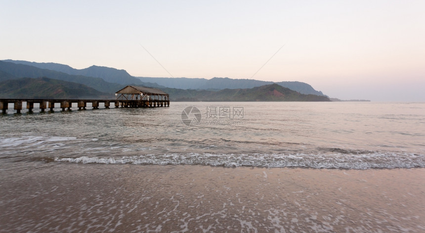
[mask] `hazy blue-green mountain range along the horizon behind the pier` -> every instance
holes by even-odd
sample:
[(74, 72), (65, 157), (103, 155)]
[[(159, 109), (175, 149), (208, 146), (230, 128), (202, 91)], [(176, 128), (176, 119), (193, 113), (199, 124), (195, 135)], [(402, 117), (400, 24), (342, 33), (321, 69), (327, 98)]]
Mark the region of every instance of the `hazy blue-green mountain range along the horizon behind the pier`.
[[(44, 79), (40, 80), (37, 78)], [(62, 80), (65, 82), (55, 82), (50, 79)], [(62, 97), (54, 94), (52, 91), (52, 93), (47, 93), (37, 91), (37, 88), (31, 88), (31, 86), (40, 86), (41, 82), (43, 85), (55, 86), (54, 88), (53, 86), (50, 86), (50, 89), (45, 90), (47, 92), (48, 90), (53, 89), (62, 90), (54, 92), (56, 94), (63, 93)], [(115, 68), (101, 66), (91, 66), (78, 70), (68, 65), (58, 63), (36, 63), (14, 60), (0, 61), (0, 91), (3, 93), (0, 95), (1, 98), (6, 98), (3, 97), (6, 93), (9, 96), (8, 98), (12, 98), (12, 96), (14, 96), (13, 98), (18, 98), (16, 96), (20, 96), (21, 92), (25, 93), (24, 90), (37, 92), (33, 93), (33, 96), (48, 95), (57, 96), (59, 98), (65, 98), (64, 96), (83, 96), (82, 94), (84, 91), (82, 92), (77, 90), (79, 88), (84, 89), (84, 86), (78, 86), (77, 88), (75, 85), (71, 85), (68, 82), (83, 84), (87, 88), (91, 88), (87, 89), (87, 93), (89, 93), (88, 96), (92, 97), (105, 96), (105, 94), (110, 94), (110, 98), (113, 98), (113, 93), (115, 93), (117, 90), (120, 90), (124, 86), (137, 85), (160, 88), (170, 93), (170, 100), (172, 101), (291, 101), (289, 96), (298, 96), (295, 99), (298, 99), (299, 101), (311, 101), (307, 100), (308, 98), (306, 96), (308, 95), (322, 96), (325, 97), (324, 99), (327, 99), (325, 101), (329, 101), (327, 96), (325, 96), (322, 92), (314, 90), (314, 88), (307, 83), (297, 81), (274, 83), (254, 79), (231, 78), (146, 78), (133, 77), (125, 70), (118, 70)], [(15, 87), (17, 87), (17, 83), (25, 88), (13, 90)], [(36, 85), (36, 83), (38, 84)], [(64, 91), (66, 88), (63, 88), (63, 85), (73, 86), (73, 88)], [(9, 86), (9, 89), (7, 89), (7, 86)], [(265, 89), (261, 88), (255, 89), (255, 87), (260, 86), (272, 86), (275, 89), (279, 89), (278, 86), (286, 87), (291, 89), (288, 89), (289, 91), (294, 91), (294, 93), (289, 94), (289, 92), (285, 90), (283, 92), (286, 94), (283, 95), (285, 96), (283, 98), (282, 95), (277, 93), (283, 93), (282, 89), (279, 89), (276, 90), (277, 95), (266, 95), (268, 97), (255, 97), (255, 92), (266, 91)], [(44, 89), (41, 88), (40, 90)], [(231, 96), (232, 98), (228, 98), (228, 96)], [(277, 98), (278, 96), (279, 98)]]

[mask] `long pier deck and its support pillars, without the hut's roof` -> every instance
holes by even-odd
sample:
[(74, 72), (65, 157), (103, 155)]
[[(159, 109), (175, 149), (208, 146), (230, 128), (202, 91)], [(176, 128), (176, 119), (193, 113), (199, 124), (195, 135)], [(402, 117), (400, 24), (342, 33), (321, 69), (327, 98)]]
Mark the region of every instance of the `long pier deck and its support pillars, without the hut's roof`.
[(20, 113), (23, 102), (26, 102), (26, 108), (30, 113), (33, 112), (34, 104), (38, 104), (41, 112), (44, 112), (45, 109), (53, 111), (55, 104), (60, 104), (62, 111), (71, 110), (74, 103), (77, 104), (79, 110), (85, 110), (87, 103), (91, 103), (93, 109), (98, 109), (99, 103), (103, 103), (107, 109), (111, 103), (114, 103), (115, 108), (170, 107), (169, 100), (0, 99), (0, 110), (5, 114), (9, 104), (13, 104), (16, 113)]

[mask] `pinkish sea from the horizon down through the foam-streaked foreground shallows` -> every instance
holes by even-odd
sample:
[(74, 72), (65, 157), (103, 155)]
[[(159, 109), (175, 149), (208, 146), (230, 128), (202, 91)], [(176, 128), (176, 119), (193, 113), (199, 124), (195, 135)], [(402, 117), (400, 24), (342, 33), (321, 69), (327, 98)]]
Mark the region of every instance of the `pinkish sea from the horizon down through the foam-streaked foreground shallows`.
[(0, 115), (0, 232), (425, 231), (425, 103), (77, 109)]

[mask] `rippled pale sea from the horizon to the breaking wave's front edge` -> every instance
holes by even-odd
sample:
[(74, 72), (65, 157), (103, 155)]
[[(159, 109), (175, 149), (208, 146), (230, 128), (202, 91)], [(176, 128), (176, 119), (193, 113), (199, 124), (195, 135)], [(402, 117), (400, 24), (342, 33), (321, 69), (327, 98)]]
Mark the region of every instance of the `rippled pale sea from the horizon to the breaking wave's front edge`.
[[(197, 125), (181, 120), (188, 106), (201, 112)], [(220, 109), (228, 109), (230, 117), (220, 118)], [(243, 115), (232, 116), (236, 109)], [(425, 104), (173, 103), (169, 108), (59, 110), (0, 116), (3, 161), (425, 166)]]

